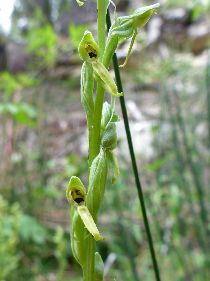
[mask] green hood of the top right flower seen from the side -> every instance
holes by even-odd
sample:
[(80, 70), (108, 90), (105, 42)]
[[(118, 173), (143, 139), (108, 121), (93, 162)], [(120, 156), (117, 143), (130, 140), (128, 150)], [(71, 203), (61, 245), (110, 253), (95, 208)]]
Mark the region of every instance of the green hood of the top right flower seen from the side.
[(160, 4), (157, 3), (154, 5), (138, 8), (133, 14), (133, 19), (136, 24), (136, 27), (141, 28), (142, 26), (144, 26), (153, 13), (157, 14), (157, 10), (155, 10), (155, 8), (159, 7)]

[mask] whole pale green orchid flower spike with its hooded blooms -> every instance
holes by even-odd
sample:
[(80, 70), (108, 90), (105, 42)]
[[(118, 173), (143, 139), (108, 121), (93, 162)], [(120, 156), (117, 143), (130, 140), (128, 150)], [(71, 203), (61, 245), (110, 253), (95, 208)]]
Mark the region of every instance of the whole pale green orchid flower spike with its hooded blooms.
[[(81, 6), (83, 2), (76, 0)], [(86, 1), (86, 0), (85, 0)], [(96, 0), (95, 0), (96, 1)], [(106, 42), (106, 13), (109, 4), (114, 6), (115, 21), (112, 24)], [(118, 115), (114, 112), (115, 98), (122, 97), (108, 68), (118, 44), (132, 38), (127, 63), (137, 28), (142, 27), (153, 13), (157, 13), (155, 4), (137, 9), (133, 15), (117, 17), (115, 4), (111, 0), (97, 0), (98, 44), (92, 33), (85, 31), (79, 45), (79, 55), (84, 61), (81, 69), (81, 102), (87, 117), (89, 131), (88, 150), (88, 188), (81, 180), (72, 176), (66, 196), (71, 206), (71, 247), (75, 259), (83, 269), (84, 281), (102, 281), (104, 265), (98, 252), (95, 253), (95, 241), (104, 240), (97, 229), (98, 212), (104, 197), (108, 170), (111, 185), (117, 180), (119, 166), (113, 150), (117, 146), (116, 124)], [(134, 33), (134, 34), (133, 34)], [(94, 79), (97, 90), (94, 102)], [(111, 94), (111, 104), (104, 103), (104, 93)]]

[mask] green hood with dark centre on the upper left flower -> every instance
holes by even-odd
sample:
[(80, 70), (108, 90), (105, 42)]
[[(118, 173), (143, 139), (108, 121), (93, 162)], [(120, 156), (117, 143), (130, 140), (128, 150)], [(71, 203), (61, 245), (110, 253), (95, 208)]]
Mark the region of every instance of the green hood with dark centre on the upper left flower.
[[(78, 50), (81, 60), (85, 60), (89, 63), (97, 60), (100, 56), (99, 46), (95, 42), (92, 33), (88, 30), (85, 31)], [(93, 53), (95, 56), (91, 58), (89, 53)]]

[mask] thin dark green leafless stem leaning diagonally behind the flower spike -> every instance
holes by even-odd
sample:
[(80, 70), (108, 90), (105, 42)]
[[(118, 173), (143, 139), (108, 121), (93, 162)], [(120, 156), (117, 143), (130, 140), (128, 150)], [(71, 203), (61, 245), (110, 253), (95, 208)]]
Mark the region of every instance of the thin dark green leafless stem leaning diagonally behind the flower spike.
[[(109, 9), (107, 10), (106, 24), (107, 24), (107, 30), (109, 30), (109, 28), (111, 27)], [(118, 65), (116, 53), (113, 55), (112, 60), (113, 60), (113, 65), (114, 65), (114, 70), (115, 70), (115, 77), (116, 77), (118, 92), (123, 92), (122, 82), (121, 82), (121, 78), (120, 78), (120, 70), (119, 70), (119, 65)], [(153, 247), (152, 236), (151, 236), (151, 233), (150, 233), (150, 227), (149, 227), (149, 223), (148, 223), (148, 219), (147, 219), (147, 215), (146, 215), (146, 209), (145, 209), (145, 205), (144, 205), (143, 192), (142, 192), (142, 189), (141, 189), (141, 183), (140, 183), (140, 180), (139, 180), (139, 174), (138, 174), (138, 170), (137, 170), (136, 159), (135, 159), (133, 145), (132, 145), (132, 139), (131, 139), (131, 135), (130, 135), (130, 129), (129, 129), (127, 111), (126, 111), (126, 107), (125, 107), (124, 96), (120, 97), (120, 105), (121, 105), (121, 108), (122, 108), (122, 114), (123, 114), (123, 119), (124, 119), (124, 123), (125, 123), (125, 131), (126, 131), (126, 135), (127, 135), (127, 139), (128, 139), (129, 151), (130, 151), (134, 176), (135, 176), (135, 179), (136, 179), (136, 186), (137, 186), (137, 189), (138, 189), (139, 200), (140, 200), (140, 203), (141, 203), (144, 225), (145, 225), (145, 229), (146, 229), (148, 243), (149, 243), (149, 246), (150, 246), (150, 253), (151, 253), (153, 266), (154, 266), (154, 270), (155, 270), (155, 276), (156, 276), (156, 280), (160, 281), (160, 275), (159, 275), (157, 260), (156, 260), (156, 257), (155, 257), (155, 251), (154, 251), (154, 247)]]

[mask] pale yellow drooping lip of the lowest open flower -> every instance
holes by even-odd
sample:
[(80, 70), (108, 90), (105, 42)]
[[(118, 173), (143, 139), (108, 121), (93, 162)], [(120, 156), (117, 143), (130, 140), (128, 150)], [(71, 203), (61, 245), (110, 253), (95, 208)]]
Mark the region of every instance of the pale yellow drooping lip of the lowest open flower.
[(94, 236), (95, 240), (101, 240), (103, 241), (105, 237), (102, 237), (99, 234), (99, 231), (97, 229), (97, 226), (95, 225), (95, 222), (92, 218), (92, 215), (90, 214), (88, 208), (85, 205), (81, 205), (77, 207), (77, 211), (85, 225), (85, 227), (88, 229), (88, 231)]

